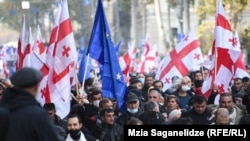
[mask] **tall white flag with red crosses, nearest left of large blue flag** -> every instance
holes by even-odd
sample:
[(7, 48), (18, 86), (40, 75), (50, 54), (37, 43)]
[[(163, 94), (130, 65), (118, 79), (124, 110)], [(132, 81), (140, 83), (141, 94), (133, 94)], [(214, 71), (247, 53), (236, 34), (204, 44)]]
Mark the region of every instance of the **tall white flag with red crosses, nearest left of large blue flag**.
[(71, 86), (75, 84), (75, 81), (72, 83), (72, 78), (76, 78), (75, 65), (78, 58), (67, 0), (62, 1), (59, 21), (59, 30), (53, 52), (53, 83), (61, 96), (60, 102), (64, 103), (64, 109), (61, 109), (61, 112), (66, 116), (70, 109)]

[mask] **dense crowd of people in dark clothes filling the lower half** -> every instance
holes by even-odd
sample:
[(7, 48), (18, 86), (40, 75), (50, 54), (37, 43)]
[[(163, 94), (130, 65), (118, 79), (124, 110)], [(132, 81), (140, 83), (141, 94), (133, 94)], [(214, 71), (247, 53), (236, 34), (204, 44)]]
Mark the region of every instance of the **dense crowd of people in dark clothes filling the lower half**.
[(36, 101), (42, 74), (23, 68), (0, 82), (0, 140), (123, 141), (124, 125), (250, 124), (249, 78), (235, 78), (227, 93), (219, 94), (214, 85), (205, 97), (200, 89), (207, 74), (202, 68), (174, 76), (166, 91), (154, 74), (133, 74), (123, 113), (115, 99), (103, 97), (101, 78), (94, 74), (84, 83), (87, 96), (72, 88), (70, 113), (61, 118), (54, 103)]

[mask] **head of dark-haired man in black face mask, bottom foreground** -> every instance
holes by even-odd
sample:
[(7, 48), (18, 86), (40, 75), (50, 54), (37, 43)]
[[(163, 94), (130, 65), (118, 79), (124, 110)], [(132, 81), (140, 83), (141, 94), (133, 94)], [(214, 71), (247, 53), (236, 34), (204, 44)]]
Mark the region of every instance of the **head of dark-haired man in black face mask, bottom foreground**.
[(77, 140), (81, 136), (82, 121), (77, 114), (71, 114), (67, 118), (67, 131), (71, 138)]

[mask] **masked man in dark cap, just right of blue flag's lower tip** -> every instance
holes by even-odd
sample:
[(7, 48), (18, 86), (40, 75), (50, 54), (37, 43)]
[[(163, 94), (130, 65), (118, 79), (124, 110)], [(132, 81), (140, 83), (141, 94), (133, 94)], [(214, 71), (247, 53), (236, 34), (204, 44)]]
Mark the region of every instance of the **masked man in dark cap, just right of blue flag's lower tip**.
[(130, 92), (126, 97), (127, 111), (117, 118), (117, 123), (120, 125), (125, 125), (128, 123), (131, 117), (138, 118), (142, 114), (141, 108), (139, 108), (140, 101), (136, 94)]

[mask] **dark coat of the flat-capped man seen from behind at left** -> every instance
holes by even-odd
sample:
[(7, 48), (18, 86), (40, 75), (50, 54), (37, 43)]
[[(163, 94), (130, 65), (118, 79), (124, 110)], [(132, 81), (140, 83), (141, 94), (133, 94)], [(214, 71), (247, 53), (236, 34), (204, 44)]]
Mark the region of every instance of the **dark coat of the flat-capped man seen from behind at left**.
[(47, 111), (29, 93), (7, 88), (2, 104), (10, 111), (6, 141), (59, 141)]

